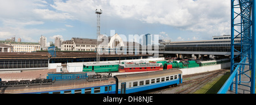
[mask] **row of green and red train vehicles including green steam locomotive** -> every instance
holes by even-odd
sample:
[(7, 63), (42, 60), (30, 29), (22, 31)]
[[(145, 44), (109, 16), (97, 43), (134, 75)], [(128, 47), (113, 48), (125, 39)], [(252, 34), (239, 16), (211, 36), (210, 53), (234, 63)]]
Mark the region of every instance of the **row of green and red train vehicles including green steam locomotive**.
[(230, 62), (229, 58), (221, 60), (210, 60), (210, 61), (150, 61), (150, 62), (122, 62), (118, 63), (104, 63), (104, 64), (84, 64), (82, 72), (148, 72), (148, 71), (159, 71), (163, 69), (172, 68), (197, 68), (201, 66), (216, 65)]

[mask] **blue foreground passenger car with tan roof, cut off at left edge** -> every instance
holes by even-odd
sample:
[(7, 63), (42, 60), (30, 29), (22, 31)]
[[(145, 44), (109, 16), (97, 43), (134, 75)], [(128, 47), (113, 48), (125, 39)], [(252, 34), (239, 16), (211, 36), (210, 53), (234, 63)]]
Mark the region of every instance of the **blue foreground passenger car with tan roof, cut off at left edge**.
[(31, 84), (26, 86), (7, 86), (0, 90), (5, 94), (114, 94), (113, 77), (73, 79), (55, 81), (47, 85)]

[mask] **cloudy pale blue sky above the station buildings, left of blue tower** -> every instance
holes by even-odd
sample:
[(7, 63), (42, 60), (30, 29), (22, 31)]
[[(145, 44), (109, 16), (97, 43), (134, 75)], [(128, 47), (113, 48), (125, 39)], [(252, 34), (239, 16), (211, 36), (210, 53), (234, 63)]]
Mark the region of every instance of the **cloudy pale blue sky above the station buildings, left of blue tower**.
[(230, 34), (228, 0), (0, 0), (0, 40), (47, 42), (55, 36), (96, 39), (96, 9), (101, 33), (151, 33), (172, 41), (210, 40)]

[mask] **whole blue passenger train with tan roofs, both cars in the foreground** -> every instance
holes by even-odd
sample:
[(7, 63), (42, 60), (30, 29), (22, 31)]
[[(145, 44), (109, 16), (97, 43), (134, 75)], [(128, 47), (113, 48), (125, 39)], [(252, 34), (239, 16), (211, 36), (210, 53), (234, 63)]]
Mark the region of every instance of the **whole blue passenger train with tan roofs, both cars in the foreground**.
[(52, 79), (47, 79), (47, 83), (43, 79), (35, 83), (17, 82), (12, 85), (2, 81), (0, 92), (2, 94), (129, 94), (182, 83), (182, 72), (178, 69), (114, 77), (97, 74), (87, 76), (88, 78), (81, 79), (67, 75), (64, 77), (70, 80), (65, 81), (54, 81), (53, 76)]

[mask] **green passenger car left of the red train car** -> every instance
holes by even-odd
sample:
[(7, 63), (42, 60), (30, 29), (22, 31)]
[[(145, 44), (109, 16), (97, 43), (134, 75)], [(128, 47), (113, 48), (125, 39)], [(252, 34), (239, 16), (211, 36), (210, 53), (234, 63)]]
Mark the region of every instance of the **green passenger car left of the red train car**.
[(118, 63), (84, 64), (82, 72), (118, 72)]

